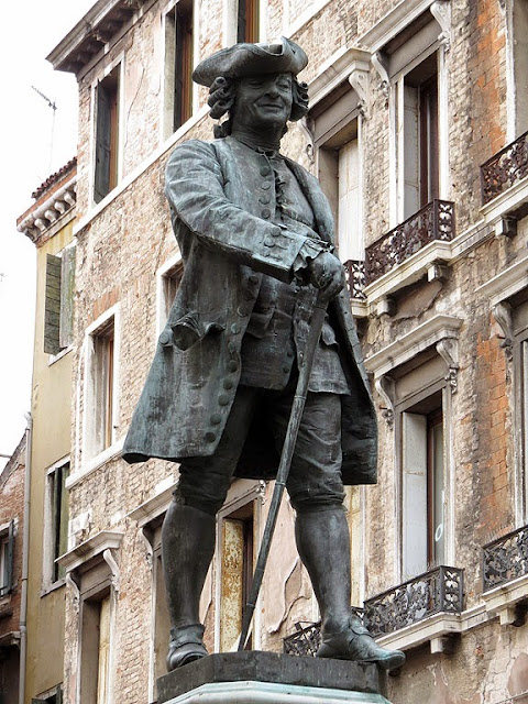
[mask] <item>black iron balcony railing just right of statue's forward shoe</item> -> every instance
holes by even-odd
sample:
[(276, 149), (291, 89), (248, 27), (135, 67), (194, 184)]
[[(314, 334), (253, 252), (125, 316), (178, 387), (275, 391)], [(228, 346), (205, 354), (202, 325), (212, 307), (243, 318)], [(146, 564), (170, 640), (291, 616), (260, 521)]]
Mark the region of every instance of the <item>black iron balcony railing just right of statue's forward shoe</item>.
[(442, 565), (367, 600), (364, 622), (378, 638), (436, 614), (460, 614), (463, 601), (463, 570)]

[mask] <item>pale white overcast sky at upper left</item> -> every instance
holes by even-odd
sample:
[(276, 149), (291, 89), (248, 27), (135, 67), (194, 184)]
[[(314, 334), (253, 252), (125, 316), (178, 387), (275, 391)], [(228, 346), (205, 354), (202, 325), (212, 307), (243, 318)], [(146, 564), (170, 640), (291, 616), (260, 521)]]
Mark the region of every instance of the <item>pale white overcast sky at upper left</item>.
[[(75, 155), (77, 144), (76, 79), (54, 72), (45, 57), (92, 4), (26, 0), (2, 9), (0, 454), (11, 453), (21, 439), (31, 397), (35, 246), (15, 221), (33, 202), (32, 191)], [(57, 106), (55, 124), (54, 111), (32, 86)]]

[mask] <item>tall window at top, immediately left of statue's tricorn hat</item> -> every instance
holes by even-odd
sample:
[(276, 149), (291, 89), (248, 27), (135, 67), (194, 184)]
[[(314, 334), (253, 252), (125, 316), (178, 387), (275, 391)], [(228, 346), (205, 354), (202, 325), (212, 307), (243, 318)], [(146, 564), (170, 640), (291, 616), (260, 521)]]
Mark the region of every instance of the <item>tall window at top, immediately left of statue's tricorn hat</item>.
[(165, 136), (193, 114), (193, 4), (179, 0), (165, 15)]

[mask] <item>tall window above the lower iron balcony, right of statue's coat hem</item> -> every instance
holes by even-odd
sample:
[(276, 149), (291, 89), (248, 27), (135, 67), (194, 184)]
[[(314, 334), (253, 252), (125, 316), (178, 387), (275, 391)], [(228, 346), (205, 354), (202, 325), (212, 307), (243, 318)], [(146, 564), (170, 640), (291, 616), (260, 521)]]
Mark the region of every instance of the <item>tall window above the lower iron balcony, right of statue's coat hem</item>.
[(403, 573), (444, 562), (444, 439), (441, 392), (402, 413)]

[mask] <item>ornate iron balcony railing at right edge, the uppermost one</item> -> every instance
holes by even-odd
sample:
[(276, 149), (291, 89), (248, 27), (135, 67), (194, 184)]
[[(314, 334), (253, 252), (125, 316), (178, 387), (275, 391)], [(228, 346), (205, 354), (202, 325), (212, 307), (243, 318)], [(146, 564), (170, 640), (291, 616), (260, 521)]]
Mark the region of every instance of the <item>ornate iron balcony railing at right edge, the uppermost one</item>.
[(482, 205), (485, 206), (525, 176), (528, 176), (528, 132), (481, 166)]

